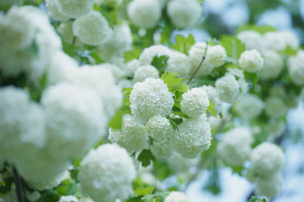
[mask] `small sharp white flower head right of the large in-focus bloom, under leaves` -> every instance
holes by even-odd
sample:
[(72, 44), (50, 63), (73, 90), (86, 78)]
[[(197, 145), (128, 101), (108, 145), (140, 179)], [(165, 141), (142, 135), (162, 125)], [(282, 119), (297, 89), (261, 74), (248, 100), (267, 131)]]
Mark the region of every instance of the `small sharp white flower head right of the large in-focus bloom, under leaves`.
[(205, 113), (209, 106), (207, 92), (202, 88), (192, 88), (182, 94), (181, 112), (189, 117), (198, 117)]

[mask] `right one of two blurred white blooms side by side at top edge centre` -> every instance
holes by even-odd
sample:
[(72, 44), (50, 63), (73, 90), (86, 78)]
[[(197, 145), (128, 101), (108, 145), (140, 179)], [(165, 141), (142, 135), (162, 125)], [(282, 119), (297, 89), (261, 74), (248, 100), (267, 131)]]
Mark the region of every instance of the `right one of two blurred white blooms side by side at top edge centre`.
[(170, 0), (167, 13), (174, 26), (192, 26), (202, 16), (202, 5), (197, 0)]

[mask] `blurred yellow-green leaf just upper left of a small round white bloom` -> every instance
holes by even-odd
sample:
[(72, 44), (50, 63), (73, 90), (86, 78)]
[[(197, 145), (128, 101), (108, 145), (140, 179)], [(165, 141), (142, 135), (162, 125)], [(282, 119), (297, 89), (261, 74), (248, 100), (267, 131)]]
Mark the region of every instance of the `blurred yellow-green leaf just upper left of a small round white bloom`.
[(241, 43), (235, 36), (223, 35), (219, 44), (225, 48), (227, 56), (234, 59), (239, 58), (240, 54), (245, 51), (245, 44)]

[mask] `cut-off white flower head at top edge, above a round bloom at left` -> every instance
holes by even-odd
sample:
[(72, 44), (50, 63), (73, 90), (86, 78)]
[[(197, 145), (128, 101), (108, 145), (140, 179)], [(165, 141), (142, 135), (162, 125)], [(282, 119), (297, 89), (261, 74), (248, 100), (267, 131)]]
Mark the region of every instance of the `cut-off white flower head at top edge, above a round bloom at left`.
[(94, 0), (54, 0), (58, 11), (76, 18), (93, 9)]

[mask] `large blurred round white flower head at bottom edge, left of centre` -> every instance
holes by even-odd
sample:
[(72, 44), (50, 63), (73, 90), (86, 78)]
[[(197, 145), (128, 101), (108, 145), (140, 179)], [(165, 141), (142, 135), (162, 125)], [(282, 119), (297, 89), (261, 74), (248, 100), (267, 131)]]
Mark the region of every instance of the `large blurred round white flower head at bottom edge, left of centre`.
[(117, 145), (101, 145), (91, 150), (80, 163), (82, 194), (94, 202), (126, 200), (132, 194), (135, 177), (131, 157)]

